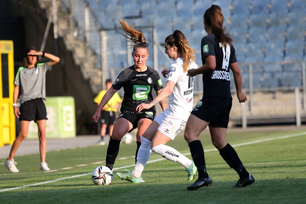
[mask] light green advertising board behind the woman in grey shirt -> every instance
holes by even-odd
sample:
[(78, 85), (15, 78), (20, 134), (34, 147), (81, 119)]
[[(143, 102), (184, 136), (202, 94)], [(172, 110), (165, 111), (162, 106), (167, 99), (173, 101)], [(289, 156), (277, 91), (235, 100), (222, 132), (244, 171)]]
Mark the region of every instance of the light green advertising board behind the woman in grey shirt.
[[(46, 97), (48, 120), (46, 121), (46, 138), (76, 137), (76, 116), (74, 98)], [(29, 124), (28, 139), (38, 138), (38, 128), (34, 121)]]

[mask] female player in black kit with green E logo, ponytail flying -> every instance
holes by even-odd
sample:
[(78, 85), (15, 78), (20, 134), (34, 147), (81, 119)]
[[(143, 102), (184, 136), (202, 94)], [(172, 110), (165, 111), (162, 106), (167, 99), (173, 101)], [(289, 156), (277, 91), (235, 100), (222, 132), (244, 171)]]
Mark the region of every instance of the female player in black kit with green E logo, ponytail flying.
[[(136, 160), (137, 152), (141, 145), (140, 136), (154, 120), (156, 113), (154, 106), (150, 109), (142, 110), (140, 113), (136, 111), (136, 107), (141, 103), (150, 103), (153, 100), (152, 89), (154, 89), (158, 95), (163, 88), (158, 72), (145, 65), (149, 56), (149, 49), (143, 33), (141, 30), (134, 30), (134, 27), (130, 28), (129, 24), (122, 19), (119, 22), (123, 27), (124, 33), (128, 35), (124, 36), (129, 41), (135, 43), (132, 52), (134, 65), (126, 68), (119, 74), (112, 87), (105, 93), (96, 113), (92, 116), (92, 120), (97, 122), (102, 108), (107, 104), (109, 99), (123, 87), (124, 98), (120, 109), (121, 114), (113, 127), (113, 134), (110, 138), (106, 153), (106, 166), (111, 170), (113, 169), (115, 159), (118, 155), (122, 137), (125, 133), (138, 128), (136, 133)], [(161, 103), (161, 108), (163, 111), (166, 110), (166, 104)]]

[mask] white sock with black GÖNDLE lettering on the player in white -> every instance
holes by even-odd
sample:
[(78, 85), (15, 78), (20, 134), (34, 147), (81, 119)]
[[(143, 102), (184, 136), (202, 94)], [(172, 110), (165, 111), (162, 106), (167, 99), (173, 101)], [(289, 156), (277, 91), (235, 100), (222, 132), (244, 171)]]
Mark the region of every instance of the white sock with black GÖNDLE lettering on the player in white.
[(188, 159), (187, 157), (179, 153), (176, 149), (171, 148), (164, 144), (157, 145), (153, 147), (151, 150), (157, 154), (160, 154), (163, 158), (182, 164), (186, 169), (192, 163), (192, 160)]

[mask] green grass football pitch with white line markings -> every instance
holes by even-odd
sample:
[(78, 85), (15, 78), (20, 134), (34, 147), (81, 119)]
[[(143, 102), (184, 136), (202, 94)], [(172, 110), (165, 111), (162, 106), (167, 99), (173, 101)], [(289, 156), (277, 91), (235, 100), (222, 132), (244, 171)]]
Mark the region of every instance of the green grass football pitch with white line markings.
[[(228, 133), (227, 140), (235, 145), (305, 131)], [(209, 135), (201, 135), (200, 139), (204, 149), (214, 148)], [(182, 136), (167, 145), (189, 153)], [(245, 168), (255, 177), (254, 185), (245, 188), (232, 188), (239, 177), (214, 150), (205, 152), (213, 184), (198, 191), (187, 191), (192, 183), (187, 181), (187, 172), (166, 159), (145, 166), (145, 183), (120, 180), (115, 173), (124, 172), (121, 168), (114, 170), (110, 185), (94, 185), (89, 173), (105, 165), (106, 149), (92, 146), (49, 152), (50, 172), (39, 171), (39, 154), (15, 157), (20, 171), (16, 174), (4, 167), (5, 159), (0, 159), (0, 203), (306, 203), (306, 133), (235, 147)], [(135, 149), (135, 142), (121, 144), (114, 168), (133, 165)], [(152, 153), (149, 161), (159, 158)], [(41, 182), (45, 183), (37, 185)], [(25, 185), (30, 186), (8, 190)]]

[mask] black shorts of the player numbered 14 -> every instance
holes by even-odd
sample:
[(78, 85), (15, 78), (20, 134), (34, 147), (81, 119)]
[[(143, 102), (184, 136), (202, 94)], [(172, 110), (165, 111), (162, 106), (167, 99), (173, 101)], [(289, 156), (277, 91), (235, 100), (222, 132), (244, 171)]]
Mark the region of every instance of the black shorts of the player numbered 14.
[(210, 126), (227, 128), (232, 99), (225, 97), (206, 96), (193, 108), (191, 114)]

